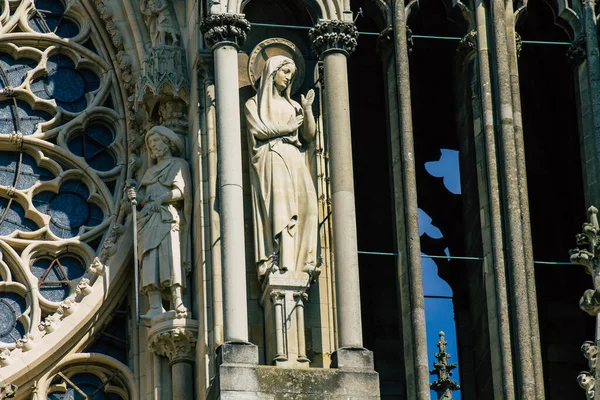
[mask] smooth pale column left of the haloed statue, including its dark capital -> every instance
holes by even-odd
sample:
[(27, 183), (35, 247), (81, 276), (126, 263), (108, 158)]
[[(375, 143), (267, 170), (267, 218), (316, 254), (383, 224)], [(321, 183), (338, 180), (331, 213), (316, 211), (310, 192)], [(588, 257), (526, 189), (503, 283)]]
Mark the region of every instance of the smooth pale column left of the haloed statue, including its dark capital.
[(250, 23), (241, 14), (216, 14), (200, 30), (215, 62), (224, 340), (248, 342), (237, 53)]

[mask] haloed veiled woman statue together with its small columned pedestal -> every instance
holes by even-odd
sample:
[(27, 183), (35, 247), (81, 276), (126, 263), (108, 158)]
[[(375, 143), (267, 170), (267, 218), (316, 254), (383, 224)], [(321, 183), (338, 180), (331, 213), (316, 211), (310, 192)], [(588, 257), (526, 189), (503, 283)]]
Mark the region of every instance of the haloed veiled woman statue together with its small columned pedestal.
[(307, 163), (307, 145), (316, 134), (315, 93), (309, 90), (300, 103), (291, 99), (301, 86), (304, 60), (285, 39), (259, 43), (248, 70), (257, 91), (245, 115), (267, 358), (280, 367), (308, 368), (304, 304), (319, 259), (317, 193)]

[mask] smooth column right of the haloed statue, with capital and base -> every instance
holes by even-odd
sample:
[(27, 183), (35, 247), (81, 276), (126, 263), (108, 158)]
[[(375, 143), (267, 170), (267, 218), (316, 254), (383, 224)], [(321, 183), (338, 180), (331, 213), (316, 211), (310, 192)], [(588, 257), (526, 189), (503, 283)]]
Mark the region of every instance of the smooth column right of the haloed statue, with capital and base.
[[(372, 368), (372, 355), (363, 349), (362, 342), (348, 95), (347, 57), (356, 48), (358, 32), (351, 22), (320, 21), (309, 31), (309, 36), (317, 54), (323, 60), (326, 88), (324, 111), (327, 115), (325, 126), (330, 143), (339, 339), (339, 348), (333, 355), (332, 365), (339, 368)], [(356, 357), (359, 354), (362, 355)]]

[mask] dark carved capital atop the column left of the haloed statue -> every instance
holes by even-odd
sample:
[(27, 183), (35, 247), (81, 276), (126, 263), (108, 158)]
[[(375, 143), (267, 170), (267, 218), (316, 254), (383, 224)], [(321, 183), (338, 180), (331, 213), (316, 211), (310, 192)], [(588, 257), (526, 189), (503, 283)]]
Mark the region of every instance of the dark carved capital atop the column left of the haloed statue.
[(250, 32), (250, 22), (244, 14), (212, 14), (202, 21), (200, 31), (211, 49), (223, 43), (241, 47)]

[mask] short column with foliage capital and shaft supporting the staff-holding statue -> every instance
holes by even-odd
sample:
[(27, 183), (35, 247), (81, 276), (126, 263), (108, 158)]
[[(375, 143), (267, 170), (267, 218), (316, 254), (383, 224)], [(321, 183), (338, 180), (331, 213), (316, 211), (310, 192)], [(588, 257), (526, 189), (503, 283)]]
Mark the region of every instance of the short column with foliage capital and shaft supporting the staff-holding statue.
[(165, 321), (154, 325), (148, 332), (148, 349), (155, 357), (169, 359), (172, 376), (170, 398), (173, 400), (194, 398), (193, 363), (196, 357), (197, 334), (198, 322), (192, 320)]

